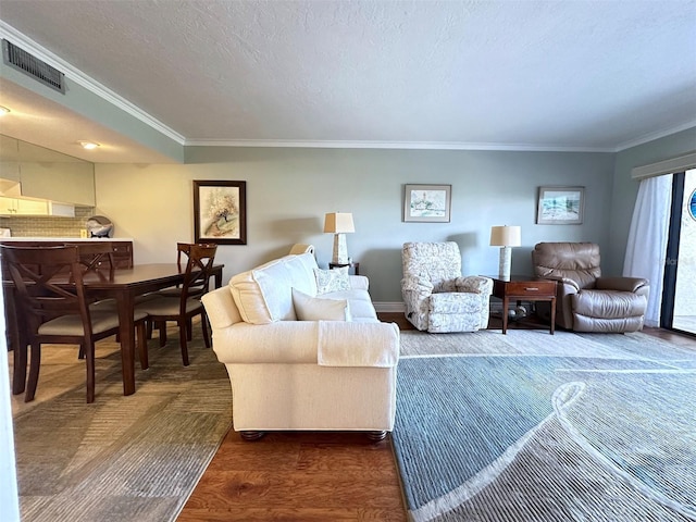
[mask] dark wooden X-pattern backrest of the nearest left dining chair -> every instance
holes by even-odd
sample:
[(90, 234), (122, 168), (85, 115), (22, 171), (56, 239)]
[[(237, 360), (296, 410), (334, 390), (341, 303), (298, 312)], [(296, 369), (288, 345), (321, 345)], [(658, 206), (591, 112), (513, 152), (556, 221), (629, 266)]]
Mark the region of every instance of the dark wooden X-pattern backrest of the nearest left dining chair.
[(46, 321), (71, 313), (82, 318), (86, 336), (91, 335), (77, 247), (2, 246), (2, 257), (29, 335)]

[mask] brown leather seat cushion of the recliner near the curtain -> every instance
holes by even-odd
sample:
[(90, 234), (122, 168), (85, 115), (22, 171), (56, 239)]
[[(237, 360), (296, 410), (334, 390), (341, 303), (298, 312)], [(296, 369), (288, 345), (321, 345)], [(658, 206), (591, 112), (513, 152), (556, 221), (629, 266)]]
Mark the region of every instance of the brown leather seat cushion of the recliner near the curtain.
[(645, 296), (632, 291), (587, 290), (571, 296), (576, 315), (605, 320), (642, 316), (645, 313)]

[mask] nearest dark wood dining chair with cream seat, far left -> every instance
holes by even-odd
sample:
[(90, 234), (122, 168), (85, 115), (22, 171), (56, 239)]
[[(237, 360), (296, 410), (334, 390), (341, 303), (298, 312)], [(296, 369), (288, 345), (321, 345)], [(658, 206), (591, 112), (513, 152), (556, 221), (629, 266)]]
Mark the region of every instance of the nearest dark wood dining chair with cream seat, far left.
[[(41, 345), (78, 345), (86, 359), (87, 402), (95, 401), (95, 343), (119, 332), (119, 315), (90, 310), (76, 246), (1, 246), (2, 258), (14, 284), (22, 316), (21, 341), (14, 361), (14, 380), (26, 382), (25, 402), (34, 400), (41, 363)], [(145, 341), (147, 314), (136, 312), (138, 337)], [(30, 346), (26, 377), (27, 346)], [(145, 348), (140, 350), (146, 352)]]

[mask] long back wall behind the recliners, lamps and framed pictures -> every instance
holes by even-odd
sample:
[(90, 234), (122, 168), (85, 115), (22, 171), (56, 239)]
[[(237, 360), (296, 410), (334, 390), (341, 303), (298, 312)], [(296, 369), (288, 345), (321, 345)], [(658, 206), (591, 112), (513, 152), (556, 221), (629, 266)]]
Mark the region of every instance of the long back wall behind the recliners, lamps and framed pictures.
[[(221, 246), (225, 281), (287, 252), (295, 243), (316, 247), (320, 265), (332, 254), (322, 233), (325, 212), (352, 212), (348, 252), (371, 279), (377, 303), (400, 303), (401, 245), (455, 240), (465, 274), (495, 274), (492, 225), (522, 226), (512, 272), (530, 273), (538, 241), (596, 241), (609, 249), (614, 154), (569, 152), (433, 151), (198, 147), (185, 165), (98, 164), (98, 212), (115, 235), (135, 240), (135, 261), (173, 261), (176, 241), (194, 239), (192, 179), (247, 182), (248, 241)], [(405, 184), (452, 186), (450, 223), (403, 223)], [(582, 225), (536, 225), (538, 187), (585, 187)], [(383, 309), (387, 309), (384, 308)]]

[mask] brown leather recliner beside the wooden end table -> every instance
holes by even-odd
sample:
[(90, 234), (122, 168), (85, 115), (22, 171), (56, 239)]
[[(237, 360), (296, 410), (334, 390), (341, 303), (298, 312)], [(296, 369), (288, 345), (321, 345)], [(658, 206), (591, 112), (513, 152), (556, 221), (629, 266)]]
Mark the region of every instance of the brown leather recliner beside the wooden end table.
[[(642, 277), (601, 277), (599, 246), (539, 243), (532, 250), (534, 274), (558, 281), (556, 323), (575, 332), (643, 330), (650, 286)], [(539, 310), (543, 312), (543, 310)]]

